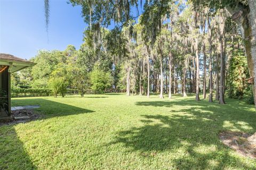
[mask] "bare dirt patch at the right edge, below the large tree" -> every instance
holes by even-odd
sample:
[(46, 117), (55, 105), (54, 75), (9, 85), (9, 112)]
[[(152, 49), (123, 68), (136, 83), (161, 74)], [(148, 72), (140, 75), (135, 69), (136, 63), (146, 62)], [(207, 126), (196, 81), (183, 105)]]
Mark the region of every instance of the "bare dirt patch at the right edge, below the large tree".
[(256, 159), (256, 133), (250, 135), (243, 132), (223, 131), (220, 140), (228, 147), (236, 150), (239, 155)]

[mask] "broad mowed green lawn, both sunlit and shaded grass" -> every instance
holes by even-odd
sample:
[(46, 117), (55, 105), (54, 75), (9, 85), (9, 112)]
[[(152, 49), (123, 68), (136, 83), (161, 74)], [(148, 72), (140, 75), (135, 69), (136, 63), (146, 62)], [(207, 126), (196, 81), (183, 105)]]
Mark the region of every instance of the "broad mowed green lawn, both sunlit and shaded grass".
[(194, 98), (13, 98), (13, 106), (41, 105), (44, 117), (0, 126), (0, 169), (256, 169), (218, 138), (254, 133), (254, 106)]

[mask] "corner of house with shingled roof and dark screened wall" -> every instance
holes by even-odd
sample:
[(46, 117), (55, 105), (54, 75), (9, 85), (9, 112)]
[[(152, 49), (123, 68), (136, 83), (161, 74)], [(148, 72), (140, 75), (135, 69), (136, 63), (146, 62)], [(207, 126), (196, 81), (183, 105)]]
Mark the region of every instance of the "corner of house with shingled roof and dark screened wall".
[(35, 63), (10, 54), (0, 53), (0, 121), (11, 116), (11, 73), (33, 66)]

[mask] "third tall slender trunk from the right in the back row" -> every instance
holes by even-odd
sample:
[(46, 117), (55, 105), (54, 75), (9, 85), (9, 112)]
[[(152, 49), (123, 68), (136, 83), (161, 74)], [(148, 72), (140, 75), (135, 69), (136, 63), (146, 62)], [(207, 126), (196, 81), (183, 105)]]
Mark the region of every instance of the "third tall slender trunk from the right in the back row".
[(209, 74), (210, 74), (210, 80), (209, 80), (209, 102), (212, 103), (212, 28), (210, 19), (208, 18), (208, 31), (209, 31)]

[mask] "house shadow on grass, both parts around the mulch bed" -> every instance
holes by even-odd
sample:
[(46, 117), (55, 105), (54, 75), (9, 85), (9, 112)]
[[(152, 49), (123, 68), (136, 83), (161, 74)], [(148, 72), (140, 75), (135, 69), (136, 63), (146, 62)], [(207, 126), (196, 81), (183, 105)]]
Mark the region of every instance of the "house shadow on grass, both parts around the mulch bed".
[[(13, 99), (12, 104), (40, 105), (37, 111), (43, 111), (41, 119), (92, 113), (85, 108), (58, 103), (47, 99)], [(37, 169), (23, 148), (23, 143), (16, 134), (15, 125), (0, 126), (0, 169)], [(20, 159), (22, 158), (22, 159)]]

